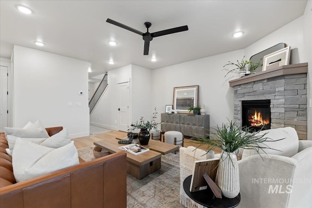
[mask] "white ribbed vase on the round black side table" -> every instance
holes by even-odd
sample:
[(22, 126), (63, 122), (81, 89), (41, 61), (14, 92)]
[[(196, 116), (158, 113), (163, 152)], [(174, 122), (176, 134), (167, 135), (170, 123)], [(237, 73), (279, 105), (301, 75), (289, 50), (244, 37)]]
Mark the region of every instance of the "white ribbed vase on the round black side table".
[(239, 194), (239, 171), (234, 153), (222, 151), (216, 183), (227, 198), (235, 198)]

